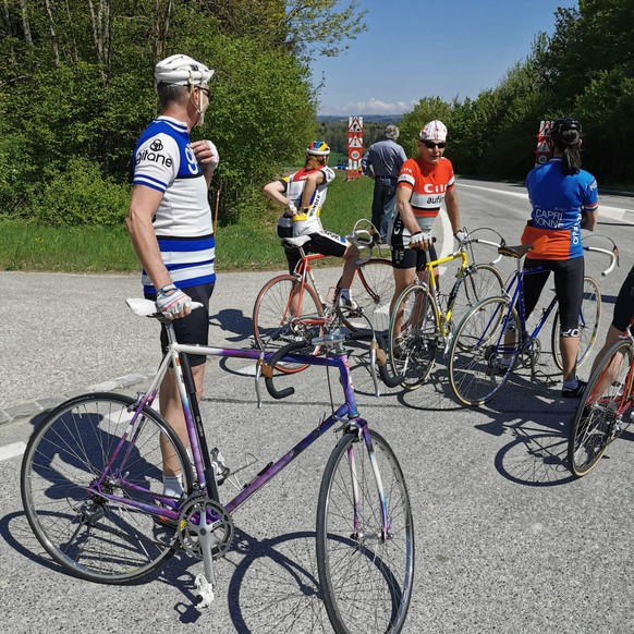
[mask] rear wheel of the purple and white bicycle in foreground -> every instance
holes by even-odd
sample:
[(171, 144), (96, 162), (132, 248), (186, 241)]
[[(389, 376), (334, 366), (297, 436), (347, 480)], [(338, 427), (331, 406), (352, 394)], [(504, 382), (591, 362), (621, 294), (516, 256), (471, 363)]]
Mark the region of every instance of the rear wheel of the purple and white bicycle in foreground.
[(122, 441), (102, 490), (157, 504), (155, 496), (162, 493), (161, 438), (181, 463), (185, 490), (192, 489), (185, 449), (159, 414), (144, 409), (134, 432), (123, 439), (133, 403), (114, 393), (62, 403), (35, 429), (22, 461), (22, 502), (35, 536), (56, 562), (83, 580), (132, 582), (160, 568), (179, 545), (174, 528), (161, 525), (157, 515), (87, 492)]

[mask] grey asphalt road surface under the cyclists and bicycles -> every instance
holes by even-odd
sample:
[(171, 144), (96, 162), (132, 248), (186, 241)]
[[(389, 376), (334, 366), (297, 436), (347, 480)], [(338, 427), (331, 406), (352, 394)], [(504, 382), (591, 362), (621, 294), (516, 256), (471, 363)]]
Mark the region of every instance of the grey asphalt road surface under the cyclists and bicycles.
[[(522, 190), (461, 185), (464, 223), (496, 227), (509, 243), (519, 243), (528, 209)], [(601, 278), (603, 263), (587, 260), (605, 302), (599, 339), (634, 261), (632, 200), (602, 203), (597, 233), (618, 242), (622, 266)], [(326, 288), (337, 273), (319, 271), (319, 280)], [(212, 344), (247, 345), (253, 301), (270, 277), (219, 277)], [(44, 407), (103, 382), (134, 391), (158, 362), (157, 327), (125, 307), (126, 296), (138, 295), (136, 276), (12, 272), (0, 273), (0, 288), (13, 300), (0, 306), (2, 631), (330, 631), (314, 553), (317, 490), (334, 444), (330, 435), (236, 513), (235, 548), (219, 565), (218, 598), (207, 610), (191, 605), (202, 565), (184, 554), (129, 587), (81, 582), (50, 562), (31, 534), (19, 492), (21, 443), (41, 414), (24, 416), (15, 407)], [(547, 354), (541, 369), (559, 380)], [(259, 471), (317, 424), (330, 398), (325, 370), (312, 368), (289, 379), (296, 389), (292, 398), (266, 399), (257, 410), (253, 378), (244, 371), (239, 361), (208, 363), (203, 416), (232, 465), (253, 453)], [(560, 398), (558, 382), (532, 383), (520, 371), (489, 407), (476, 411), (454, 403), (442, 361), (414, 392), (386, 390), (377, 399), (365, 376), (355, 382), (362, 414), (392, 444), (412, 498), (416, 575), (405, 632), (634, 631), (632, 434), (609, 449), (593, 474), (573, 480), (565, 468), (572, 404)], [(339, 398), (337, 383), (333, 394)]]

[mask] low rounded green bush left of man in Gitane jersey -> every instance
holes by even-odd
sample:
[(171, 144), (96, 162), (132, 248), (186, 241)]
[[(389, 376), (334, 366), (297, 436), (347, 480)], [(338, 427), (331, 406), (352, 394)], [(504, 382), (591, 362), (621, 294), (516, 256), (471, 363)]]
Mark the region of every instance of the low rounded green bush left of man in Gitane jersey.
[(122, 225), (130, 187), (105, 179), (95, 161), (72, 159), (63, 173), (52, 174), (34, 202), (37, 222), (48, 225)]

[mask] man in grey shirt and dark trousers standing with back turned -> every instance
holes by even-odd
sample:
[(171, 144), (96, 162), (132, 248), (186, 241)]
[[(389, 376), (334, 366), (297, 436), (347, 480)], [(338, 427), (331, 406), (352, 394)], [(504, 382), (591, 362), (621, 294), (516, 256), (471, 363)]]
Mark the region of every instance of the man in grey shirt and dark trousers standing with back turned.
[(401, 166), (407, 159), (405, 150), (397, 143), (399, 134), (395, 125), (387, 125), (385, 141), (370, 145), (361, 161), (363, 173), (375, 180), (371, 220), (382, 242), (386, 241), (388, 224), (394, 212), (397, 179)]

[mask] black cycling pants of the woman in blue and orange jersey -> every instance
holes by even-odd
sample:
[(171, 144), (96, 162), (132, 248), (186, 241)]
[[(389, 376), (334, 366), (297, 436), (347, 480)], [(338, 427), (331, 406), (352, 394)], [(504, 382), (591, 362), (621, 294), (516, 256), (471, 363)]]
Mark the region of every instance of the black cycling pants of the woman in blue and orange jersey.
[(524, 314), (526, 319), (533, 312), (550, 271), (554, 273), (554, 292), (559, 301), (560, 331), (578, 329), (578, 315), (584, 291), (584, 258), (529, 259), (524, 258), (524, 269), (542, 267), (541, 273), (524, 276)]

